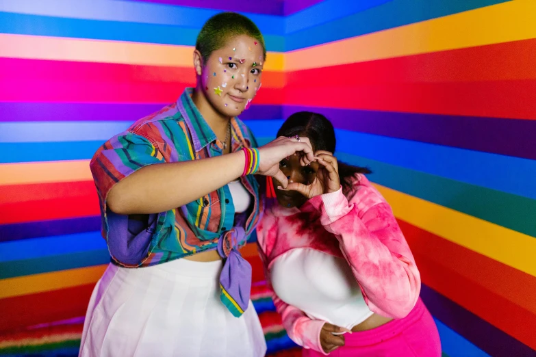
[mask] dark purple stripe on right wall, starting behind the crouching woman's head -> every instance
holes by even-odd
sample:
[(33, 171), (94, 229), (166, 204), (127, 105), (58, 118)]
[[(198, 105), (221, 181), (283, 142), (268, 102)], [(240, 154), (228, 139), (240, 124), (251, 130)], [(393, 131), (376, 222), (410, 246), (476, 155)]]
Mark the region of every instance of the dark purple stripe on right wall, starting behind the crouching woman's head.
[(322, 107), (283, 107), (283, 118), (316, 111), (338, 129), (536, 159), (536, 120), (396, 113)]

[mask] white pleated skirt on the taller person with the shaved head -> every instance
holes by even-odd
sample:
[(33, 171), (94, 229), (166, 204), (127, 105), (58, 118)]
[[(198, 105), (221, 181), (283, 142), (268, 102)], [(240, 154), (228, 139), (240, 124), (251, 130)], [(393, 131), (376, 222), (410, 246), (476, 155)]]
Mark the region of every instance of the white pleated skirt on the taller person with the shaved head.
[(234, 317), (220, 301), (222, 262), (177, 259), (108, 265), (84, 322), (82, 357), (260, 357), (266, 342), (251, 301)]

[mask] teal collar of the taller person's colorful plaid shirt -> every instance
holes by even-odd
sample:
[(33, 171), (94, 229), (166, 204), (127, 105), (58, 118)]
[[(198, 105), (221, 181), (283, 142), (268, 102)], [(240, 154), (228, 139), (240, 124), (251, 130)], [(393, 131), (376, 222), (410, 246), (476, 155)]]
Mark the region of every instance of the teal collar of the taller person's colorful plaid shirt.
[[(194, 88), (185, 88), (179, 99), (177, 99), (177, 109), (183, 116), (184, 122), (192, 135), (192, 144), (196, 153), (201, 151), (205, 146), (216, 140), (216, 134), (210, 129), (209, 124), (203, 118), (199, 110), (192, 101)], [(240, 128), (236, 118), (231, 118), (231, 141), (233, 146), (244, 146), (244, 132)], [(250, 146), (250, 145), (248, 145)]]

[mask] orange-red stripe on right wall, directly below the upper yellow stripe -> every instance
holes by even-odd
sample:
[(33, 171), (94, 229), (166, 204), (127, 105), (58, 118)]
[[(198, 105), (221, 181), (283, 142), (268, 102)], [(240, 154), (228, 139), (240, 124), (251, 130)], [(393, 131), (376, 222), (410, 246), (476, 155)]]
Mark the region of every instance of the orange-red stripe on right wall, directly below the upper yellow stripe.
[[(378, 83), (448, 83), (536, 79), (536, 39), (424, 53), (370, 62), (298, 70), (287, 74), (292, 88), (348, 87)], [(334, 81), (335, 79), (335, 81)]]

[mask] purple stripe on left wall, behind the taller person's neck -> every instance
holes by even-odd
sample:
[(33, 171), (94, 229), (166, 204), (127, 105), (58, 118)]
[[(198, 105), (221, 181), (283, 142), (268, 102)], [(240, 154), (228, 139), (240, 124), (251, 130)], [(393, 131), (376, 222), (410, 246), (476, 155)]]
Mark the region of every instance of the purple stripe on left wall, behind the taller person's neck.
[[(134, 122), (169, 103), (0, 103), (0, 122), (125, 120)], [(251, 105), (242, 120), (281, 119), (281, 105)]]

